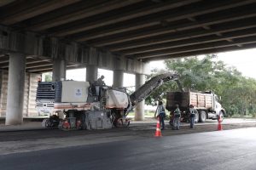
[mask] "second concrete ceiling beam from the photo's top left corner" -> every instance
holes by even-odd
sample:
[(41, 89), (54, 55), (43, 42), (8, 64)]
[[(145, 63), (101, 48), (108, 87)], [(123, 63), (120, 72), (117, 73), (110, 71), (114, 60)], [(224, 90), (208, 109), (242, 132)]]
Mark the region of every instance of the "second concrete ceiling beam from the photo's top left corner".
[(39, 23), (38, 25), (31, 26), (30, 29), (32, 31), (42, 31), (54, 26), (60, 26), (74, 20), (81, 20), (96, 14), (102, 14), (111, 11), (116, 8), (122, 8), (134, 3), (140, 3), (142, 1), (143, 0), (129, 0), (120, 2), (119, 0), (111, 0), (104, 3), (96, 4), (94, 6), (89, 6), (89, 8), (74, 12), (72, 14), (65, 14), (52, 20), (46, 20)]

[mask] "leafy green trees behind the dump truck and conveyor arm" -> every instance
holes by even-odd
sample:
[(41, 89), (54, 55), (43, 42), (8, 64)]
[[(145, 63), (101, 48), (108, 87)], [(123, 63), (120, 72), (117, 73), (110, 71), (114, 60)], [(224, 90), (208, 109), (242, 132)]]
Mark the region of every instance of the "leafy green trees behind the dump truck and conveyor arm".
[[(154, 70), (153, 77), (165, 71), (177, 71), (179, 81), (185, 90), (214, 90), (222, 96), (222, 105), (229, 116), (234, 114), (255, 116), (256, 112), (256, 80), (242, 77), (235, 67), (227, 67), (217, 55), (206, 55), (203, 59), (189, 57), (169, 59), (165, 61), (166, 70)], [(166, 92), (178, 91), (176, 82), (167, 82), (155, 90), (146, 103), (152, 105), (158, 99), (166, 99)]]

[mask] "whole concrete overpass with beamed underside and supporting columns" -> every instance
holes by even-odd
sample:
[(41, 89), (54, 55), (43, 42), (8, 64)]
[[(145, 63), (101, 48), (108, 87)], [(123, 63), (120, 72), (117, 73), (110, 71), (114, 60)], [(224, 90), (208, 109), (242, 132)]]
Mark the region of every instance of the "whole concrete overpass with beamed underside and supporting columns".
[[(143, 84), (147, 62), (256, 47), (256, 0), (2, 0), (0, 69), (9, 69), (7, 124), (22, 122), (25, 72), (125, 71)], [(143, 105), (143, 104), (142, 104)], [(137, 119), (143, 119), (142, 105)]]

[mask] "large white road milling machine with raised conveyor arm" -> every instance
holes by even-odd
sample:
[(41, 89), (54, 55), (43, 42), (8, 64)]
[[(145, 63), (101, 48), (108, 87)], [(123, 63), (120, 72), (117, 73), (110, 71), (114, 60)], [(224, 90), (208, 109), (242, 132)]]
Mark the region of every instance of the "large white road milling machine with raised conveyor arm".
[(39, 114), (49, 114), (42, 122), (44, 127), (63, 130), (127, 127), (130, 120), (126, 116), (139, 102), (162, 83), (177, 78), (176, 72), (152, 77), (131, 95), (125, 88), (95, 82), (38, 82), (36, 108)]

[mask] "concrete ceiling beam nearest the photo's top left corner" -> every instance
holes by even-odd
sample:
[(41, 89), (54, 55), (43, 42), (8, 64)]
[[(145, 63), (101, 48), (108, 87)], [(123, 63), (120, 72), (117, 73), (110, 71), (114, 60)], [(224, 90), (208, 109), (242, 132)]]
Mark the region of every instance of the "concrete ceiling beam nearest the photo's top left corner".
[(7, 17), (4, 17), (0, 21), (4, 25), (13, 25), (22, 20), (27, 20), (32, 17), (38, 16), (39, 14), (44, 14), (49, 11), (53, 11), (57, 8), (65, 7), (73, 3), (78, 3), (79, 1), (81, 0), (51, 0), (48, 2), (40, 3), (36, 6), (32, 6), (31, 8), (26, 8), (18, 13), (9, 15)]

